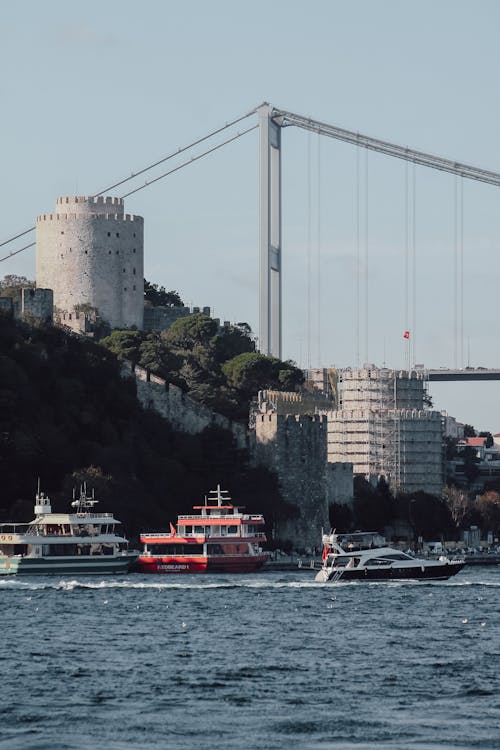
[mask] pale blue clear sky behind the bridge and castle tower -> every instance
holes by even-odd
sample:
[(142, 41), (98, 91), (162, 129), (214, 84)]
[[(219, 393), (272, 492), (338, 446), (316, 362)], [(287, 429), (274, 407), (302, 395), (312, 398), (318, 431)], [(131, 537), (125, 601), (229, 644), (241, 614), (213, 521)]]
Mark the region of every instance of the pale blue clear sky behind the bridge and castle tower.
[[(497, 0), (18, 0), (0, 13), (0, 241), (58, 196), (97, 193), (263, 101), (500, 172)], [(296, 128), (282, 164), (284, 358), (500, 367), (499, 188)], [(254, 130), (126, 198), (144, 217), (146, 278), (256, 335), (258, 178)], [(1, 263), (11, 273), (35, 277), (34, 248)], [(430, 392), (500, 432), (500, 383)]]

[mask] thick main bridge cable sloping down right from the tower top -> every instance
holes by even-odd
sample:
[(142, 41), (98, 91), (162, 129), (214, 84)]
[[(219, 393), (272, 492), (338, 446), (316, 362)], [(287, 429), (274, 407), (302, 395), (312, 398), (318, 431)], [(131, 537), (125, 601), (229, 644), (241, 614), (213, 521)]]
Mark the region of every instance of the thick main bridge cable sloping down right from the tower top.
[(329, 125), (320, 120), (313, 120), (310, 117), (303, 117), (302, 115), (297, 115), (285, 110), (273, 109), (271, 117), (274, 122), (281, 127), (296, 126), (303, 128), (304, 130), (312, 130), (315, 133), (320, 133), (329, 138), (336, 138), (337, 140), (345, 141), (346, 143), (352, 143), (355, 146), (364, 146), (365, 148), (370, 149), (370, 151), (378, 151), (386, 156), (393, 156), (396, 159), (404, 159), (405, 161), (414, 162), (419, 166), (438, 169), (442, 172), (451, 172), (452, 174), (458, 174), (470, 180), (487, 182), (490, 185), (500, 186), (499, 172), (493, 172), (488, 169), (482, 169), (481, 167), (474, 167), (470, 164), (452, 161), (451, 159), (445, 159), (441, 156), (436, 156), (435, 154), (426, 153), (425, 151), (410, 149), (407, 146), (398, 146), (389, 141), (382, 141), (379, 138), (372, 138), (371, 136), (363, 135), (362, 133), (339, 128), (335, 125)]

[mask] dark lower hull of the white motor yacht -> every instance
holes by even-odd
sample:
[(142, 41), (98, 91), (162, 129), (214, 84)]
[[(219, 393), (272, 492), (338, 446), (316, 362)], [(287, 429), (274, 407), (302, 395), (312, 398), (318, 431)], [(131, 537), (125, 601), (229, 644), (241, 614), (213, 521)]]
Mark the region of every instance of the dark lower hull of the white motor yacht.
[[(317, 581), (446, 581), (459, 573), (464, 562), (378, 568), (322, 568)], [(342, 570), (342, 574), (338, 575)]]

